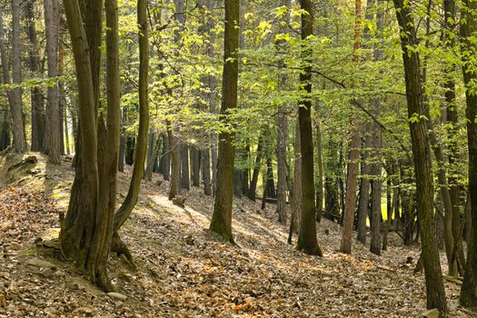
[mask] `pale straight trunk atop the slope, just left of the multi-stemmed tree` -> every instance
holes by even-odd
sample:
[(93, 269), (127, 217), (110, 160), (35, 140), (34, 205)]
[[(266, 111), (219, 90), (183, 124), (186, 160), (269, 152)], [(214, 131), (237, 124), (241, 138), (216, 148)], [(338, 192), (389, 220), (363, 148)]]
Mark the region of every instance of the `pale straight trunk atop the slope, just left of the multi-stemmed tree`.
[[(45, 33), (46, 33), (46, 55), (48, 61), (48, 77), (58, 76), (58, 1), (45, 0)], [(48, 154), (49, 160), (53, 164), (60, 164), (61, 154), (61, 129), (60, 129), (60, 104), (58, 95), (58, 84), (55, 80), (53, 86), (48, 86), (48, 97), (46, 103), (46, 129), (44, 150)]]

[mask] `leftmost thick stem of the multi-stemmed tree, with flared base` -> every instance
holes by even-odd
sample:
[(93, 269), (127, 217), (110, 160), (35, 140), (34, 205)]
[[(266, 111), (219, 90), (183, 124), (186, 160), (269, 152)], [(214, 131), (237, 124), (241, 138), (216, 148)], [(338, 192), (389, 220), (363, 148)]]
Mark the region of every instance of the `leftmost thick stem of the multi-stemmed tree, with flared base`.
[[(77, 0), (65, 0), (65, 14), (75, 57), (76, 79), (79, 96), (79, 141), (76, 154), (75, 180), (71, 190), (65, 229), (60, 234), (60, 243), (65, 256), (84, 268), (94, 283), (110, 289), (109, 282), (104, 279), (105, 272), (98, 266), (102, 260), (94, 239), (101, 234), (96, 227), (96, 214), (99, 195), (99, 174), (97, 165), (97, 134), (94, 84), (88, 39), (97, 35), (95, 32), (86, 35), (82, 14)], [(101, 25), (102, 4), (90, 6), (86, 10), (89, 21), (99, 21)], [(89, 30), (91, 31), (91, 30)], [(101, 34), (99, 34), (101, 35)], [(88, 37), (86, 37), (88, 36)], [(99, 220), (98, 221), (102, 221)]]

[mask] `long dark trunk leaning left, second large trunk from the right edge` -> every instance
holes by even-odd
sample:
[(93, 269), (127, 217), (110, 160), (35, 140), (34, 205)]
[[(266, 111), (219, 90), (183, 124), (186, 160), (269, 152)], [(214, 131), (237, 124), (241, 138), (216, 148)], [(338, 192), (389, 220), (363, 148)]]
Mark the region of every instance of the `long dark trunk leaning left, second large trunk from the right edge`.
[(432, 159), (429, 137), (423, 112), (421, 61), (412, 50), (418, 44), (411, 8), (402, 0), (393, 0), (398, 24), (401, 27), (402, 60), (406, 83), (409, 128), (411, 131), (414, 174), (417, 187), (417, 212), (421, 224), (422, 261), (424, 265), (427, 308), (447, 311), (439, 251), (435, 241), (433, 218)]

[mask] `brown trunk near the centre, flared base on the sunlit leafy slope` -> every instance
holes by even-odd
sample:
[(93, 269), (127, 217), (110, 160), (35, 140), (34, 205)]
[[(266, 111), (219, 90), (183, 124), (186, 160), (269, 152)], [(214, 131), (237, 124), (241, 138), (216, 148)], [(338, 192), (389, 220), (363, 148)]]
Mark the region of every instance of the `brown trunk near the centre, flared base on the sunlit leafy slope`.
[[(238, 45), (240, 25), (239, 1), (225, 0), (224, 33), (224, 73), (222, 80), (221, 120), (228, 123), (227, 114), (237, 106), (238, 84)], [(219, 134), (217, 160), (217, 184), (214, 201), (214, 214), (210, 230), (234, 242), (232, 235), (232, 200), (234, 177), (234, 132), (222, 131)]]

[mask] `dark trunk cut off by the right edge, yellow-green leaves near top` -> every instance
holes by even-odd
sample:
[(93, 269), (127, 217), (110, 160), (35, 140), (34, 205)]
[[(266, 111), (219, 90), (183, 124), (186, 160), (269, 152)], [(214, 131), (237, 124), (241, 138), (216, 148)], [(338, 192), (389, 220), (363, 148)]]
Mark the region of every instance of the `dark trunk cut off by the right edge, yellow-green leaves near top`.
[(477, 32), (477, 2), (463, 1), (461, 35), (462, 41), (462, 73), (467, 107), (465, 118), (467, 123), (467, 145), (469, 148), (469, 193), (471, 201), (471, 235), (467, 245), (467, 264), (463, 276), (461, 290), (461, 305), (466, 308), (477, 308), (477, 94), (474, 92), (474, 82), (477, 79), (473, 56), (477, 53), (477, 45), (470, 38)]

